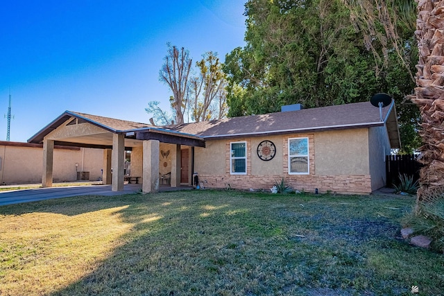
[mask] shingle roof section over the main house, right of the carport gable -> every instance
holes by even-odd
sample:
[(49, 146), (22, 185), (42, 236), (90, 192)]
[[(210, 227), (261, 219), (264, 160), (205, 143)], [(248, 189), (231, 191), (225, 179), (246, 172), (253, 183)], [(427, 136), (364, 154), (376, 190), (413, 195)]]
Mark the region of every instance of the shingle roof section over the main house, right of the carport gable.
[[(386, 119), (392, 107), (393, 104), (382, 109), (383, 119)], [(185, 123), (177, 125), (173, 130), (210, 139), (241, 134), (304, 132), (334, 128), (358, 128), (371, 125), (377, 126), (383, 125), (383, 123), (379, 120), (379, 109), (373, 107), (370, 102), (365, 102)]]

